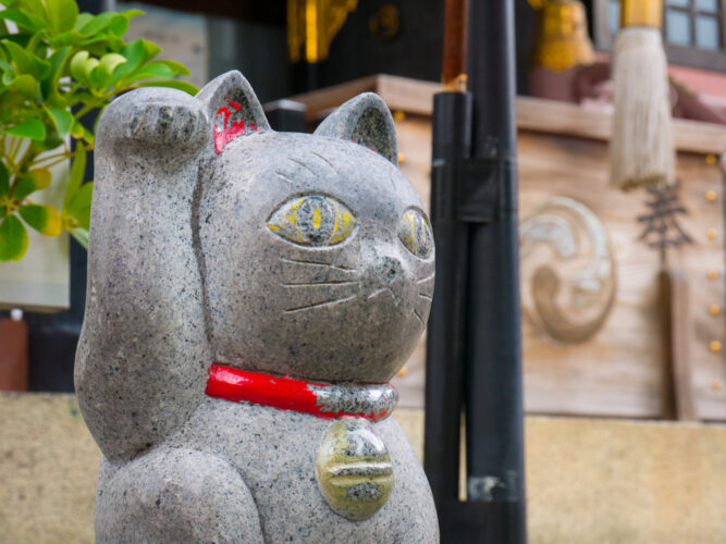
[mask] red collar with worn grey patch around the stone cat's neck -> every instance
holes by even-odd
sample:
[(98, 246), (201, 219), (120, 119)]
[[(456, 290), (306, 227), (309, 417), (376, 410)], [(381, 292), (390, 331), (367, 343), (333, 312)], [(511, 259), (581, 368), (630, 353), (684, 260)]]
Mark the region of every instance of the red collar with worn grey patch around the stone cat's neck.
[(391, 384), (336, 385), (249, 372), (212, 362), (205, 393), (234, 403), (294, 410), (322, 419), (345, 417), (380, 421), (391, 416), (398, 393)]

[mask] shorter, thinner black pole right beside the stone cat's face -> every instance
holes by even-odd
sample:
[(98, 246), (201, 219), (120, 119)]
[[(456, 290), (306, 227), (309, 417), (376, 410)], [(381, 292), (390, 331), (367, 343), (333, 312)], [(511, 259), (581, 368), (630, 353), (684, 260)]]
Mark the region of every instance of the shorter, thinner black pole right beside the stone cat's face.
[(458, 180), (471, 147), (471, 95), (438, 94), (433, 126), (431, 222), (436, 284), (427, 338), (423, 459), (443, 520), (446, 505), (458, 500), (467, 270), (467, 225), (458, 221)]

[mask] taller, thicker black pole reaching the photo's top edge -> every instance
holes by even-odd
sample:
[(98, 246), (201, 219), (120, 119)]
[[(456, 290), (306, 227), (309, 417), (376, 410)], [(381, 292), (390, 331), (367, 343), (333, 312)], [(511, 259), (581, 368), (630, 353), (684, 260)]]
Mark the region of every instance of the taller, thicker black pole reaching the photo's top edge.
[(467, 497), (489, 510), (492, 543), (527, 540), (514, 54), (513, 1), (472, 0), (472, 159), (490, 163), (495, 199), (492, 221), (469, 226)]

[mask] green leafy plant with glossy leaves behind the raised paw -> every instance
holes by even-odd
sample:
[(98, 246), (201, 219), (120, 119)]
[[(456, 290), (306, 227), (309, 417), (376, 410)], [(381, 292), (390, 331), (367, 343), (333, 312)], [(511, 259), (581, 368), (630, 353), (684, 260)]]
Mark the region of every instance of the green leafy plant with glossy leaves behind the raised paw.
[[(78, 13), (74, 0), (2, 0), (0, 11), (0, 260), (21, 260), (25, 225), (48, 236), (67, 231), (88, 245), (93, 182), (84, 182), (95, 128), (82, 123), (112, 98), (144, 86), (197, 88), (188, 70), (155, 60), (161, 48), (122, 38), (138, 10)], [(0, 5), (0, 8), (2, 8)], [(72, 151), (69, 139), (76, 143)], [(50, 168), (72, 160), (63, 206), (33, 201)]]

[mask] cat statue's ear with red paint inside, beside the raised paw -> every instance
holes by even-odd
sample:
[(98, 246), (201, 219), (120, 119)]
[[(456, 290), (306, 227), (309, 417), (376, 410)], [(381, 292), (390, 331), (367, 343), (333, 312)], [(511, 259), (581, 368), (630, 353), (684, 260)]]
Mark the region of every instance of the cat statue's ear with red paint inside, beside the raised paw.
[(206, 103), (218, 154), (238, 136), (270, 129), (253, 87), (236, 70), (209, 82), (196, 98)]

